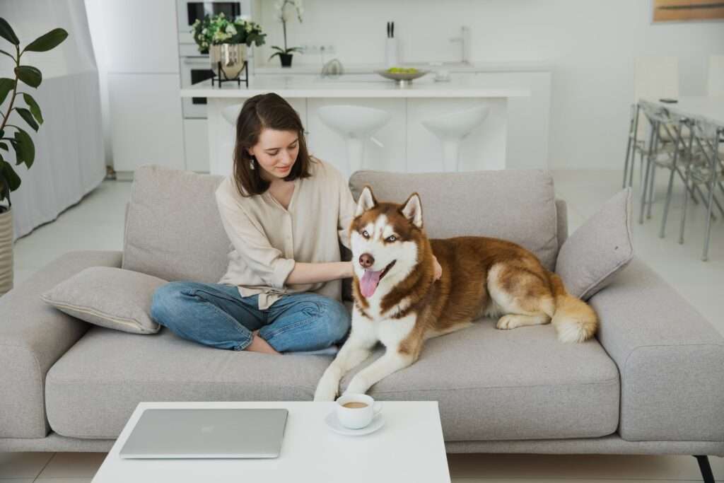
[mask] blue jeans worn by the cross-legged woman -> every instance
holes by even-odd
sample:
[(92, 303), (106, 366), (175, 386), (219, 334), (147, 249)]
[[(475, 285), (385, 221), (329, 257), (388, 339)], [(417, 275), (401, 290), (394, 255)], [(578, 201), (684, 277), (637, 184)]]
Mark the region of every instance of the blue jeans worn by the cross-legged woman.
[(185, 339), (231, 350), (244, 350), (258, 329), (277, 352), (329, 348), (351, 324), (342, 303), (316, 293), (290, 293), (259, 310), (258, 295), (242, 297), (234, 285), (185, 281), (156, 289), (151, 319)]

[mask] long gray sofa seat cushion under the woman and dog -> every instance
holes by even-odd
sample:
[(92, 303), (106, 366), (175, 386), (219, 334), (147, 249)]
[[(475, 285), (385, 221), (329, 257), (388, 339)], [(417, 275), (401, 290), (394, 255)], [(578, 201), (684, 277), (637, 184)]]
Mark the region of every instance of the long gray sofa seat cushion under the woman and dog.
[[(48, 420), (63, 436), (115, 438), (144, 400), (312, 400), (331, 361), (93, 327), (48, 373)], [(613, 361), (596, 340), (559, 343), (550, 325), (502, 331), (483, 319), (428, 340), (416, 364), (369, 393), (439, 400), (448, 441), (599, 437), (618, 425)]]

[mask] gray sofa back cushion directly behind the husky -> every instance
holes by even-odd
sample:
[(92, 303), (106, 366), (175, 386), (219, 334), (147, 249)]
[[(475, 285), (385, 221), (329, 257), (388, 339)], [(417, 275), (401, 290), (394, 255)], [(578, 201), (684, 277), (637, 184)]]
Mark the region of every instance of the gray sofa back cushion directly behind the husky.
[(404, 203), (417, 192), (430, 238), (484, 236), (510, 240), (555, 268), (558, 235), (553, 179), (539, 169), (454, 173), (358, 171), (350, 177), (357, 199), (371, 185), (378, 201)]

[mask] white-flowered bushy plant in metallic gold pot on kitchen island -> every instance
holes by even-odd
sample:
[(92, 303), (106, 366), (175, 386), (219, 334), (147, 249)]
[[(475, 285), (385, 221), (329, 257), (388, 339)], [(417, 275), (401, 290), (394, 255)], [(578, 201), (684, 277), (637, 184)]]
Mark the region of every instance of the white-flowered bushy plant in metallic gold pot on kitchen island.
[[(244, 17), (231, 20), (224, 12), (214, 17), (206, 15), (203, 20), (196, 19), (191, 25), (191, 33), (198, 51), (209, 54), (211, 70), (219, 76), (223, 72), (227, 79), (238, 77), (244, 68), (246, 48), (252, 43), (257, 47), (264, 45), (266, 37), (257, 23)], [(219, 62), (222, 63), (222, 72), (219, 72)]]

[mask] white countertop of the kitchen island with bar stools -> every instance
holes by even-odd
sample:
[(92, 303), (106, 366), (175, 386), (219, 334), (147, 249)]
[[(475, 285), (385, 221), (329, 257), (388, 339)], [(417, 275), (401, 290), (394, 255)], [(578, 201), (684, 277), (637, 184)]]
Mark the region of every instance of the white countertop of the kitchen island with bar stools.
[(284, 98), (510, 98), (531, 95), (529, 89), (496, 85), (474, 75), (452, 75), (447, 82), (437, 82), (432, 73), (400, 87), (392, 80), (374, 74), (345, 74), (340, 77), (319, 75), (256, 75), (244, 84), (211, 81), (181, 89), (181, 97), (248, 98), (275, 92)]

